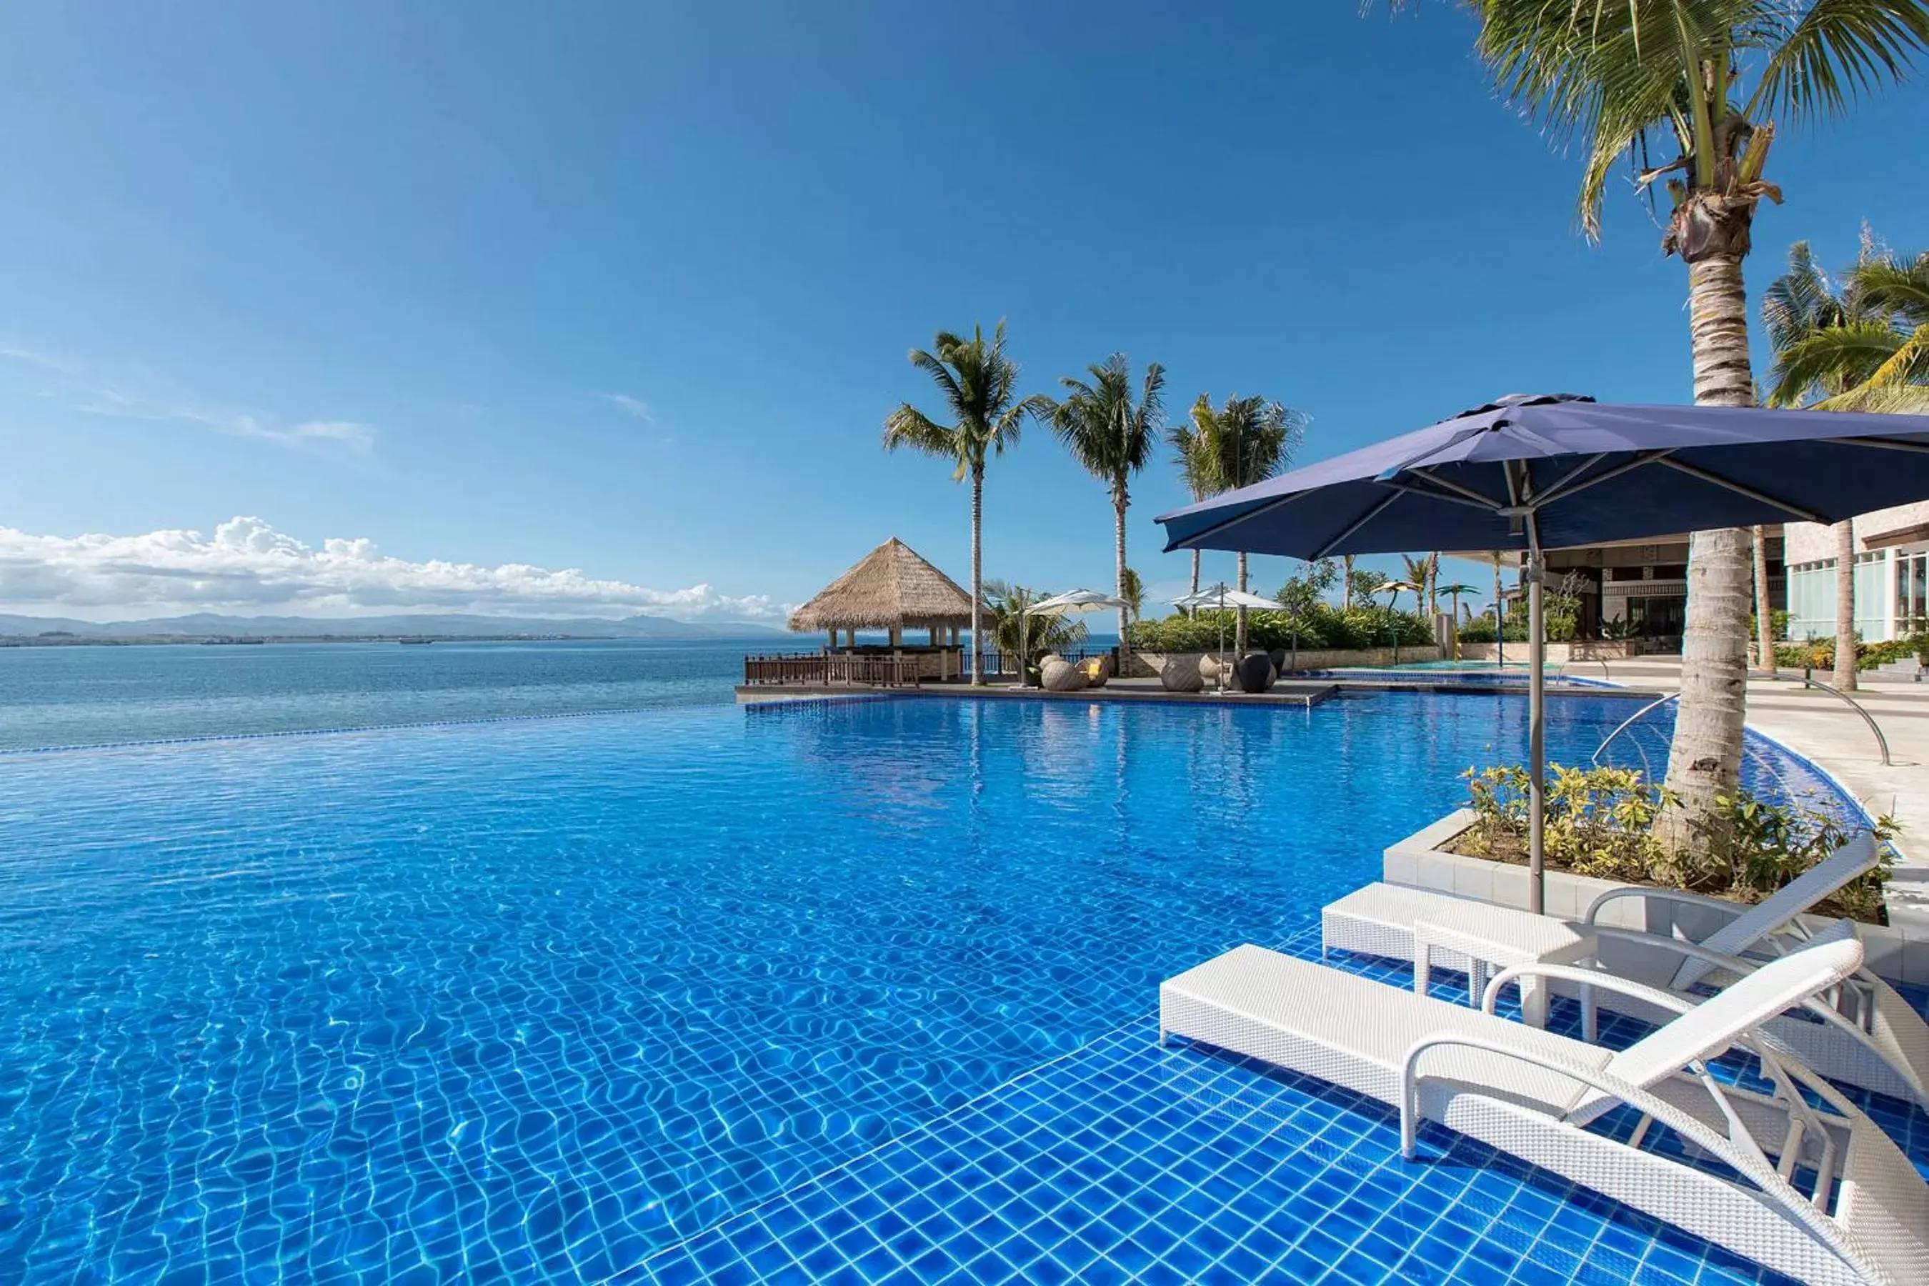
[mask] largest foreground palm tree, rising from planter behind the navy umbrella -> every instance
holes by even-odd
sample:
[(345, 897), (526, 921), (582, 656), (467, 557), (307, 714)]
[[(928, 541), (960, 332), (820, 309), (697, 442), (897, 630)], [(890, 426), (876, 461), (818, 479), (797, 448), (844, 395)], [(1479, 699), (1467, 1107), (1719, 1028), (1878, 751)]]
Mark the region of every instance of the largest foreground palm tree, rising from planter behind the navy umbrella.
[[(1412, 0), (1393, 0), (1400, 4)], [(1929, 0), (1480, 0), (1476, 48), (1514, 108), (1588, 156), (1580, 222), (1601, 231), (1615, 164), (1644, 193), (1665, 181), (1661, 249), (1688, 264), (1698, 403), (1753, 405), (1742, 260), (1779, 125), (1846, 112), (1902, 79), (1929, 46)], [(1748, 73), (1744, 73), (1744, 66)], [(1746, 85), (1744, 81), (1750, 81)], [(1651, 148), (1672, 160), (1649, 164)], [(1663, 152), (1667, 154), (1667, 152)], [(1669, 748), (1663, 839), (1707, 850), (1742, 764), (1748, 679), (1748, 530), (1696, 532), (1688, 553), (1682, 696)]]

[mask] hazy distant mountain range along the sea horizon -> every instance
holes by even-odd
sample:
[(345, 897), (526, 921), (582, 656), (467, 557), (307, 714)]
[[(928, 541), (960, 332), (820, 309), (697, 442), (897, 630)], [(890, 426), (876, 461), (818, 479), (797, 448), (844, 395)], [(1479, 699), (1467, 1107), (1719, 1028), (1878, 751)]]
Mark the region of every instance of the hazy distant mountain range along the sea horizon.
[(475, 638), (505, 634), (569, 636), (569, 638), (764, 638), (783, 630), (768, 625), (716, 623), (693, 625), (667, 617), (623, 617), (598, 621), (594, 617), (476, 617), (417, 613), (399, 617), (224, 617), (208, 611), (191, 617), (154, 617), (149, 621), (69, 621), (66, 617), (21, 617), (0, 613), (0, 636), (35, 638), (39, 634), (73, 634), (79, 638)]

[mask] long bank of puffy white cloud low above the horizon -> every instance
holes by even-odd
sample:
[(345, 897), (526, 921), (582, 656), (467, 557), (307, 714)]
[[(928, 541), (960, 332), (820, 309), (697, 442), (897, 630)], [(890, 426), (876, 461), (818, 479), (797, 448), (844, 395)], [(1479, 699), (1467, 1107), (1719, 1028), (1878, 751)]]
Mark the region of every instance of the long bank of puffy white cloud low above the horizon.
[(31, 536), (0, 526), (0, 609), (122, 619), (189, 611), (345, 617), (401, 611), (482, 615), (781, 621), (787, 603), (733, 598), (708, 584), (648, 590), (577, 569), (527, 563), (411, 563), (372, 540), (330, 538), (316, 549), (253, 517), (214, 536)]

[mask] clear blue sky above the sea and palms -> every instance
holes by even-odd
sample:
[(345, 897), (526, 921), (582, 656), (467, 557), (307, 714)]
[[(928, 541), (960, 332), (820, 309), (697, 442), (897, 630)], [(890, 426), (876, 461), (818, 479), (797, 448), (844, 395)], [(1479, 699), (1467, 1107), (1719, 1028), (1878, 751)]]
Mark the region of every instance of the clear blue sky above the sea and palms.
[[(936, 409), (909, 347), (1001, 316), (1028, 389), (1123, 349), (1175, 415), (1308, 411), (1302, 459), (1516, 389), (1686, 399), (1684, 268), (1618, 183), (1576, 233), (1578, 162), (1470, 35), (1350, 0), (10, 6), (0, 607), (756, 615), (891, 534), (963, 578), (964, 488), (880, 422)], [(1923, 120), (1917, 83), (1786, 135), (1752, 283), (1863, 218), (1914, 247)], [(1155, 586), (1181, 499), (1136, 486)], [(1042, 432), (992, 467), (986, 571), (1111, 576)]]

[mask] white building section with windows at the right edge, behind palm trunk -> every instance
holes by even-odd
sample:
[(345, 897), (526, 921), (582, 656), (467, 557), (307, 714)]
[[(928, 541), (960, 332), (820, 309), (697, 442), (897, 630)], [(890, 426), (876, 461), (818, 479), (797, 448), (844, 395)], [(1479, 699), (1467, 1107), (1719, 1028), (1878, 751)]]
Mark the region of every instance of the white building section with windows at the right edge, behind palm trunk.
[[(1788, 636), (1834, 636), (1836, 536), (1790, 522)], [(1863, 642), (1902, 638), (1929, 621), (1929, 503), (1856, 519), (1856, 632)]]

